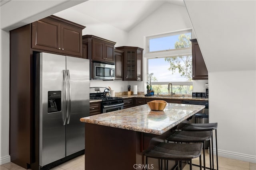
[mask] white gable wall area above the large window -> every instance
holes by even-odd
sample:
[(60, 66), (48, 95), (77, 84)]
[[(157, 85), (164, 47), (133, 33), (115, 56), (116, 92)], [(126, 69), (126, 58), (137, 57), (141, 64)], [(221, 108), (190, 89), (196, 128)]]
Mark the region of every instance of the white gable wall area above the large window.
[(165, 3), (129, 31), (128, 45), (144, 48), (144, 37), (192, 28), (186, 8)]

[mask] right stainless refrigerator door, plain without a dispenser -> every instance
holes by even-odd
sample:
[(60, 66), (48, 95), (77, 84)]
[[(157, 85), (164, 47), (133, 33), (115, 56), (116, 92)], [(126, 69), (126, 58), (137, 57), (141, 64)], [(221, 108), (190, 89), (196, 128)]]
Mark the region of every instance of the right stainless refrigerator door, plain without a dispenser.
[(80, 118), (89, 116), (89, 67), (88, 59), (66, 57), (71, 100), (66, 123), (66, 156), (84, 149), (84, 123)]

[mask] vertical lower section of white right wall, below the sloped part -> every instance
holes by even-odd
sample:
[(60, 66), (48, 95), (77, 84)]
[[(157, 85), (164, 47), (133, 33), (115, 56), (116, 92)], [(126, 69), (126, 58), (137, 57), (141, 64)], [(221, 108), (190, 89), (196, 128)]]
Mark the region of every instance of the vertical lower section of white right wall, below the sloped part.
[(256, 163), (256, 70), (209, 72), (209, 84), (218, 154)]

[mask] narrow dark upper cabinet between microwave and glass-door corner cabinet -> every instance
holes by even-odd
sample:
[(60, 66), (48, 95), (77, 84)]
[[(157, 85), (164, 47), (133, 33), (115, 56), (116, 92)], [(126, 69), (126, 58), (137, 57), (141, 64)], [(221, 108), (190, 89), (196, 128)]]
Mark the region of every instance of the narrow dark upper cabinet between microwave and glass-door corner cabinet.
[(124, 51), (115, 49), (115, 66), (116, 66), (115, 80), (123, 80), (123, 58), (124, 58)]

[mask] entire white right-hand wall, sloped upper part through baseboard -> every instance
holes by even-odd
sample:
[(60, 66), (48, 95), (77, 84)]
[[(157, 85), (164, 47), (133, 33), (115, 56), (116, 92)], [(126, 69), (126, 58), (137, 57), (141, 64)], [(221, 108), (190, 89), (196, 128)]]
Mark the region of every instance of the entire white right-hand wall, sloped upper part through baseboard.
[(185, 4), (208, 68), (218, 155), (256, 162), (256, 1)]

